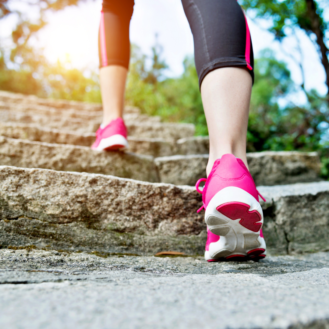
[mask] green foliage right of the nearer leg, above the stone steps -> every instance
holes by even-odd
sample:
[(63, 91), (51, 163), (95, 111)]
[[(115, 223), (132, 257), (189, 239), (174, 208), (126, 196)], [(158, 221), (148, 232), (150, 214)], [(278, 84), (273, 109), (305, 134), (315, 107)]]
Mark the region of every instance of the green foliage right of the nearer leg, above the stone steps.
[(255, 84), (252, 90), (248, 123), (247, 149), (320, 150), (327, 155), (329, 109), (326, 99), (315, 90), (307, 93), (304, 107), (278, 105), (296, 88), (286, 63), (278, 62), (270, 50), (255, 61)]

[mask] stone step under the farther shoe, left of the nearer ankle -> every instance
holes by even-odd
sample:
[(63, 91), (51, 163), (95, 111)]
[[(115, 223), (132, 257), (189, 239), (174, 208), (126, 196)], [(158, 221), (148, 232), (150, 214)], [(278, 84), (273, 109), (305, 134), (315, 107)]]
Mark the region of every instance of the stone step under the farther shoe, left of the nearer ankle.
[[(53, 134), (56, 137), (55, 132)], [(68, 140), (73, 137), (74, 134), (67, 136)], [(207, 161), (208, 155), (154, 159), (149, 155), (130, 152), (99, 152), (88, 146), (0, 137), (0, 165), (24, 168), (99, 173), (148, 182), (194, 185), (205, 175), (203, 168)]]

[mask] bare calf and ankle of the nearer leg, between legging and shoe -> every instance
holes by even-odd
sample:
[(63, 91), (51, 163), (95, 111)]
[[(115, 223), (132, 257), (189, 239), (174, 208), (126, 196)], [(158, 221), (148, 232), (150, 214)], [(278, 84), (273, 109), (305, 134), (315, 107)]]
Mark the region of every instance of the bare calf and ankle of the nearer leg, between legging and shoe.
[(223, 67), (208, 73), (201, 84), (209, 139), (207, 176), (216, 159), (234, 154), (248, 167), (246, 138), (252, 78), (243, 68)]

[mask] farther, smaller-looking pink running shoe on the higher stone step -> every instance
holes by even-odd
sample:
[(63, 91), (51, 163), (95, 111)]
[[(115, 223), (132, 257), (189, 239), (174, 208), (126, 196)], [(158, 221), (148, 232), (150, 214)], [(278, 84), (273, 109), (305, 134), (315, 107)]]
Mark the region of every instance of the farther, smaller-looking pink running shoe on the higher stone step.
[(91, 149), (96, 151), (124, 150), (128, 147), (127, 128), (122, 118), (112, 120), (106, 127), (99, 127)]

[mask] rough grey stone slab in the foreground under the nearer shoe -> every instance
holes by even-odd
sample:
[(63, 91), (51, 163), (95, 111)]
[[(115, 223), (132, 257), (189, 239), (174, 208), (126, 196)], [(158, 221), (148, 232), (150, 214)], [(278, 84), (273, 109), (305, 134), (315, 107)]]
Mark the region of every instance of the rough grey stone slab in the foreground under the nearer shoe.
[(103, 257), (1, 249), (0, 324), (9, 329), (329, 326), (328, 253), (258, 263)]

